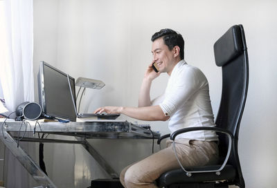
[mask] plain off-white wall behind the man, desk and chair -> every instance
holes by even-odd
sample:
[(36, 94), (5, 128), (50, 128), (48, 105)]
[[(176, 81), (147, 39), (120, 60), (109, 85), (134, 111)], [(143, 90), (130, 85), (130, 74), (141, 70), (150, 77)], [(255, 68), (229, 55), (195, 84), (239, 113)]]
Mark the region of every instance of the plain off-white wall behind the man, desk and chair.
[[(214, 63), (213, 44), (231, 26), (242, 23), (250, 71), (239, 138), (242, 172), (247, 187), (273, 188), (277, 173), (276, 8), (274, 0), (35, 0), (35, 76), (38, 62), (44, 60), (75, 78), (90, 77), (105, 82), (106, 86), (99, 91), (87, 90), (82, 111), (104, 105), (136, 106), (141, 79), (152, 58), (150, 37), (161, 28), (172, 28), (185, 39), (188, 64), (198, 66), (206, 74), (216, 115), (222, 82), (221, 70)], [(167, 75), (161, 75), (154, 81), (153, 97), (163, 91), (167, 79)], [(150, 124), (154, 130), (168, 133), (166, 123)], [(91, 144), (118, 172), (130, 162), (150, 155), (148, 140), (92, 140)], [(114, 150), (110, 155), (107, 148), (118, 149), (120, 153)], [(55, 178), (62, 171), (53, 158), (62, 158), (69, 164), (68, 170), (73, 171), (70, 176), (75, 181), (68, 182), (71, 187), (73, 183), (75, 187), (87, 185), (90, 178), (106, 177), (83, 151), (77, 145), (46, 144), (50, 166), (47, 167), (58, 187), (66, 185)], [(71, 155), (72, 158), (68, 157)]]

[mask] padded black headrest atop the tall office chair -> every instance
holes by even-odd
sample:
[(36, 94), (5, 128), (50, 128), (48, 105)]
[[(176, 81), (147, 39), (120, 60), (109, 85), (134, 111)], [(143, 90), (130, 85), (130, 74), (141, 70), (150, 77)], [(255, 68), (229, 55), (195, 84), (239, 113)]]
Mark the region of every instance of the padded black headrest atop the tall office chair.
[(229, 28), (213, 45), (215, 64), (224, 66), (243, 53), (242, 34), (240, 26)]

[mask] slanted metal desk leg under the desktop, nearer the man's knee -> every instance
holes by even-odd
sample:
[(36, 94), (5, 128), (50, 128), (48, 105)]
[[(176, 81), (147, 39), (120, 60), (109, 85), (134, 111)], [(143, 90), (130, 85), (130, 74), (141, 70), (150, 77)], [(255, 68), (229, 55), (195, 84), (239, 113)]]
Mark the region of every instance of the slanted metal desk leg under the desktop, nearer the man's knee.
[(84, 147), (84, 149), (89, 151), (91, 156), (98, 162), (98, 164), (100, 164), (100, 166), (109, 174), (109, 176), (111, 176), (111, 178), (119, 177), (116, 171), (114, 171), (114, 169), (112, 169), (111, 166), (109, 166), (107, 161), (104, 158), (102, 158), (102, 156), (100, 156), (100, 154), (91, 146), (91, 144), (89, 144), (89, 142), (87, 142), (87, 139), (79, 137), (75, 138), (78, 141), (82, 141), (82, 146)]

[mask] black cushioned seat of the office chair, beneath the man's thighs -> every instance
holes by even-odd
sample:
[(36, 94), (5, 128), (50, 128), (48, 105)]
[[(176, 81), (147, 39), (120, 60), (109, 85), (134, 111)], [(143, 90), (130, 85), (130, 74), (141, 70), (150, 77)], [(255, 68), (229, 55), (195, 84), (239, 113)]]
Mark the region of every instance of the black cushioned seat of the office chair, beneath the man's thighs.
[[(220, 169), (220, 165), (212, 165), (205, 167), (188, 167), (185, 168), (187, 171), (207, 171), (213, 169)], [(193, 173), (192, 176), (186, 176), (186, 172), (183, 169), (175, 169), (163, 173), (159, 179), (157, 179), (157, 185), (159, 187), (172, 185), (175, 183), (186, 183), (186, 182), (211, 182), (217, 180), (233, 180), (235, 178), (235, 168), (232, 165), (227, 164), (222, 171), (220, 176), (217, 176), (215, 172), (205, 173)]]

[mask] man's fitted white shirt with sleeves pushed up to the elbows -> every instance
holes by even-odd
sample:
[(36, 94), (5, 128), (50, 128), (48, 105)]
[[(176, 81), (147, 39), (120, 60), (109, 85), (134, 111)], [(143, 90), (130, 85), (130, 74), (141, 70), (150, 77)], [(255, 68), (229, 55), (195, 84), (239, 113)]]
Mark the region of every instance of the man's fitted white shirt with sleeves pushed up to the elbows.
[[(170, 75), (165, 93), (157, 99), (163, 113), (170, 116), (171, 132), (185, 127), (215, 126), (208, 89), (208, 81), (199, 68), (181, 60)], [(177, 138), (190, 140), (217, 140), (214, 131), (193, 131)]]

